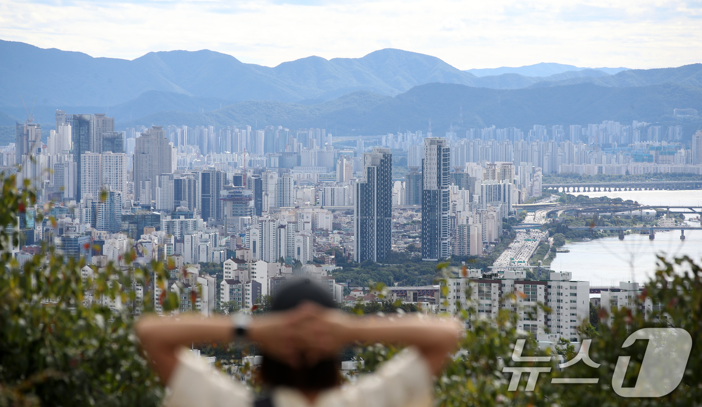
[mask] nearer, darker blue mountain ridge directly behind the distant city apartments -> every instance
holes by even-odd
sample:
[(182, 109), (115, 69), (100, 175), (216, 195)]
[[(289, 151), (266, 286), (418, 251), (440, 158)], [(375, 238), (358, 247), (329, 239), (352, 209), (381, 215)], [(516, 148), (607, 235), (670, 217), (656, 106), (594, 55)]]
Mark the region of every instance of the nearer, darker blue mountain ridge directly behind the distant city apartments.
[[(463, 124), (458, 117), (461, 108)], [(702, 88), (678, 84), (628, 88), (575, 84), (498, 90), (423, 84), (395, 97), (357, 91), (317, 105), (247, 101), (206, 113), (159, 112), (117, 126), (281, 125), (291, 129), (324, 127), (333, 134), (350, 136), (394, 133), (398, 128), (426, 131), (431, 119), (435, 135), (443, 135), (451, 125), (461, 131), (493, 124), (527, 129), (534, 124), (588, 124), (602, 120), (673, 121), (674, 108), (702, 110)], [(699, 124), (702, 123), (695, 125)]]

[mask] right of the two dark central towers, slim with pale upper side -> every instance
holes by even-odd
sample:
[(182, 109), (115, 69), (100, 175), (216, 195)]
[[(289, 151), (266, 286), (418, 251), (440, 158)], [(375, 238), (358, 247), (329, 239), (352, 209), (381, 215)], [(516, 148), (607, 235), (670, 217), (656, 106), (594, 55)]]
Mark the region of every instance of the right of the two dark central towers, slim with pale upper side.
[(449, 247), (451, 153), (446, 138), (425, 138), (422, 160), (422, 259), (436, 261)]

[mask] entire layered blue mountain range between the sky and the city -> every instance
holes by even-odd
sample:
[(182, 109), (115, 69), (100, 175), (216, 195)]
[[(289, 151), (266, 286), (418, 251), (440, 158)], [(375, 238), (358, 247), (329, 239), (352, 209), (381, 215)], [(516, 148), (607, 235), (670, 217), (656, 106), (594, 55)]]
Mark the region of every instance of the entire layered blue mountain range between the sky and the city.
[(124, 60), (0, 40), (0, 127), (10, 132), (15, 117), (27, 116), (20, 96), (47, 130), (56, 109), (105, 112), (130, 127), (277, 124), (334, 127), (345, 134), (425, 129), (429, 118), (444, 131), (452, 123), (655, 121), (673, 108), (700, 110), (702, 64), (624, 69), (541, 63), (470, 70), (474, 75), (398, 49), (362, 58), (310, 56), (265, 67), (208, 50)]

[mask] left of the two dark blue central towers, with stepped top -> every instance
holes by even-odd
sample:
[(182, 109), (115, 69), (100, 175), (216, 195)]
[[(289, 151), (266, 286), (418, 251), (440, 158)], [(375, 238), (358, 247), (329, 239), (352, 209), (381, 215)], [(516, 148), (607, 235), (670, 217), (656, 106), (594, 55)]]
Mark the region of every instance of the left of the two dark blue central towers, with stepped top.
[(363, 155), (363, 179), (355, 185), (355, 257), (384, 259), (392, 247), (392, 154), (373, 148)]

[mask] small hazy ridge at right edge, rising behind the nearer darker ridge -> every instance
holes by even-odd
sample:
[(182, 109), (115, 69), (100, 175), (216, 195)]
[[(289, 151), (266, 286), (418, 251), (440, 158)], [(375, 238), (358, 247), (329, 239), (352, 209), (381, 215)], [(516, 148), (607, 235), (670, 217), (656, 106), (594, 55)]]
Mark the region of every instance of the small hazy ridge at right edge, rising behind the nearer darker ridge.
[(681, 67), (658, 68), (651, 70), (627, 70), (604, 77), (578, 77), (556, 81), (543, 81), (534, 87), (562, 86), (578, 83), (591, 83), (600, 86), (648, 86), (653, 84), (675, 83), (686, 86), (702, 86), (702, 64), (695, 63)]

